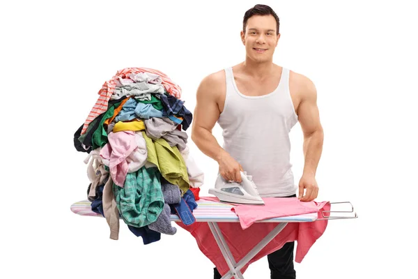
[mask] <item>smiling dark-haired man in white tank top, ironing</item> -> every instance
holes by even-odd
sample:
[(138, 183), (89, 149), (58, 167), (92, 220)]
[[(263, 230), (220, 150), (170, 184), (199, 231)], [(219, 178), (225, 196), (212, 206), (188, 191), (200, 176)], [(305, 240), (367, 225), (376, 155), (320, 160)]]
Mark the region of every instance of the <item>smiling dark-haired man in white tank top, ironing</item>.
[[(245, 61), (205, 77), (196, 93), (192, 140), (219, 164), (226, 180), (253, 177), (261, 197), (318, 196), (315, 174), (323, 146), (316, 88), (304, 75), (272, 62), (279, 42), (279, 17), (269, 6), (247, 10), (241, 40)], [(304, 169), (299, 189), (290, 163), (289, 132), (299, 121), (304, 135)], [(218, 122), (224, 146), (212, 135)], [(268, 255), (271, 278), (295, 278), (294, 242)], [(214, 278), (221, 278), (215, 268)]]

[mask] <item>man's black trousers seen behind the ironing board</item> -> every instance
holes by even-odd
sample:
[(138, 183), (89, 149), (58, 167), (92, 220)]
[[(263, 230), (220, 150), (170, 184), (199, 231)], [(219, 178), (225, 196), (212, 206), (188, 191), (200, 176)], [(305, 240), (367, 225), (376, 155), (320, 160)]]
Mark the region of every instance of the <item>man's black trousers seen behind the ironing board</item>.
[[(289, 197), (296, 197), (291, 195)], [(295, 241), (284, 244), (282, 248), (267, 255), (268, 267), (270, 268), (271, 279), (295, 279), (296, 271), (293, 266), (293, 250)], [(213, 279), (220, 279), (222, 276), (213, 269)]]

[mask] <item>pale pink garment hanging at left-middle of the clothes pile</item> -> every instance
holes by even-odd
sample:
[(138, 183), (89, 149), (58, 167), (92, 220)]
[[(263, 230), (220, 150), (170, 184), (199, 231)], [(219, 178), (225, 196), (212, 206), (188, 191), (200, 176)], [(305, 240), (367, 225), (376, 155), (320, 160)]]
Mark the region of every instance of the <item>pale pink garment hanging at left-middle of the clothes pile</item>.
[(103, 161), (109, 160), (111, 179), (117, 186), (123, 187), (128, 170), (126, 158), (138, 147), (135, 133), (131, 130), (111, 132), (107, 135), (107, 140), (109, 142), (102, 147), (100, 157)]

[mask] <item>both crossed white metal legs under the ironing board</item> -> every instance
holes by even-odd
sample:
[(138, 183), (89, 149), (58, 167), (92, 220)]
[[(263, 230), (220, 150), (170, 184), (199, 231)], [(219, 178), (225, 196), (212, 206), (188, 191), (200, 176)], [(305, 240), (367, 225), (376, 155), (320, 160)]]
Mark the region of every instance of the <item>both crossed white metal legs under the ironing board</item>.
[(224, 258), (226, 260), (226, 264), (228, 264), (230, 271), (226, 273), (224, 276), (222, 276), (222, 279), (229, 279), (233, 276), (235, 278), (243, 279), (242, 273), (240, 269), (242, 269), (245, 264), (247, 264), (253, 257), (255, 257), (258, 252), (260, 252), (265, 246), (274, 239), (274, 237), (281, 232), (284, 227), (286, 227), (287, 223), (279, 223), (272, 231), (264, 237), (254, 248), (251, 249), (251, 251), (248, 252), (245, 257), (243, 257), (238, 264), (235, 262), (235, 259), (233, 258), (233, 255), (231, 254), (231, 250), (229, 250), (228, 245), (226, 244), (226, 241), (224, 239), (224, 236), (222, 235), (221, 230), (219, 229), (217, 223), (208, 223), (210, 227), (210, 231), (212, 232), (213, 236), (215, 236), (215, 240), (221, 249), (222, 255), (224, 255)]

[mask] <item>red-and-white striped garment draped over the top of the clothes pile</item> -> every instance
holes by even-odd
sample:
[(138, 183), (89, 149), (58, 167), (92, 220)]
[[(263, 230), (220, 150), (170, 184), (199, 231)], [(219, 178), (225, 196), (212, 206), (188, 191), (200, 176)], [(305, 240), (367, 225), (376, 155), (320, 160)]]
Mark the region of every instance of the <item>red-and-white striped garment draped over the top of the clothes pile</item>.
[(166, 89), (167, 93), (173, 95), (174, 97), (180, 99), (181, 96), (181, 88), (178, 84), (175, 84), (166, 74), (160, 72), (159, 70), (154, 70), (151, 68), (125, 68), (123, 70), (118, 70), (116, 75), (111, 78), (111, 80), (104, 82), (102, 85), (102, 89), (99, 90), (99, 98), (96, 101), (95, 105), (91, 109), (91, 112), (88, 114), (86, 121), (84, 121), (84, 126), (82, 128), (82, 135), (86, 133), (88, 128), (88, 124), (91, 123), (98, 115), (102, 114), (103, 112), (107, 111), (107, 103), (109, 102), (110, 97), (115, 91), (116, 88), (116, 81), (129, 77), (130, 74), (137, 74), (137, 73), (153, 73), (156, 75), (160, 75), (162, 79), (162, 85)]

